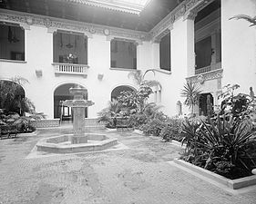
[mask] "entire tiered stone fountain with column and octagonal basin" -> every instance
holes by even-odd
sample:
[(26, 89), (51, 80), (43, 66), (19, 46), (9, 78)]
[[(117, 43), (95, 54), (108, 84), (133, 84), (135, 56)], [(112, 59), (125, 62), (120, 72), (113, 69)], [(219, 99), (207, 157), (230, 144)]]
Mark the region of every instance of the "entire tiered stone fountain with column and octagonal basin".
[(118, 143), (115, 138), (105, 134), (85, 132), (85, 109), (94, 102), (83, 99), (87, 89), (81, 87), (70, 88), (73, 100), (66, 100), (63, 105), (73, 109), (73, 134), (44, 138), (37, 142), (37, 151), (55, 153), (72, 153), (83, 151), (102, 151)]

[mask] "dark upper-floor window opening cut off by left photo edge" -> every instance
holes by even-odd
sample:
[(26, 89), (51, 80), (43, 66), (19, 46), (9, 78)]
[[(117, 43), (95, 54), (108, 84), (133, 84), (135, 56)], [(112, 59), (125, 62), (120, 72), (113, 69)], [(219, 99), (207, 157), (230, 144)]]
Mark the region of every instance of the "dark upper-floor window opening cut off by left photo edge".
[(25, 61), (25, 31), (18, 25), (0, 22), (0, 59)]

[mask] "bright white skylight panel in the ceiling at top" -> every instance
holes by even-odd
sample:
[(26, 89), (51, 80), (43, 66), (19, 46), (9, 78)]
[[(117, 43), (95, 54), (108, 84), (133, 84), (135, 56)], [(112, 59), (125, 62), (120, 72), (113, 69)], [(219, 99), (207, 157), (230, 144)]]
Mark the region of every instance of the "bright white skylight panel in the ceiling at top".
[(85, 5), (94, 5), (107, 9), (139, 15), (151, 0), (69, 0)]

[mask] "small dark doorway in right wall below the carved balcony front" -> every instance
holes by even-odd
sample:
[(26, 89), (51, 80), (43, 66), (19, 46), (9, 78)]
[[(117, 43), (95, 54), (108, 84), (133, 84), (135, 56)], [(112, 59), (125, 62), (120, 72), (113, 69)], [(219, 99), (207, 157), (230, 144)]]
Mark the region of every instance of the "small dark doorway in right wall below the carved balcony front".
[(200, 115), (211, 115), (213, 112), (213, 96), (210, 92), (200, 94)]

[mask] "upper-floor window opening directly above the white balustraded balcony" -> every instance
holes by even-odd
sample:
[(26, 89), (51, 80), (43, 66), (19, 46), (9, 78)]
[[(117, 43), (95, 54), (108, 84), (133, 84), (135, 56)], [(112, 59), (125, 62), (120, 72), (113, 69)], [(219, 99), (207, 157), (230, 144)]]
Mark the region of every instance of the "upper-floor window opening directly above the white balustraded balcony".
[(87, 36), (56, 32), (54, 34), (54, 63), (87, 64)]

